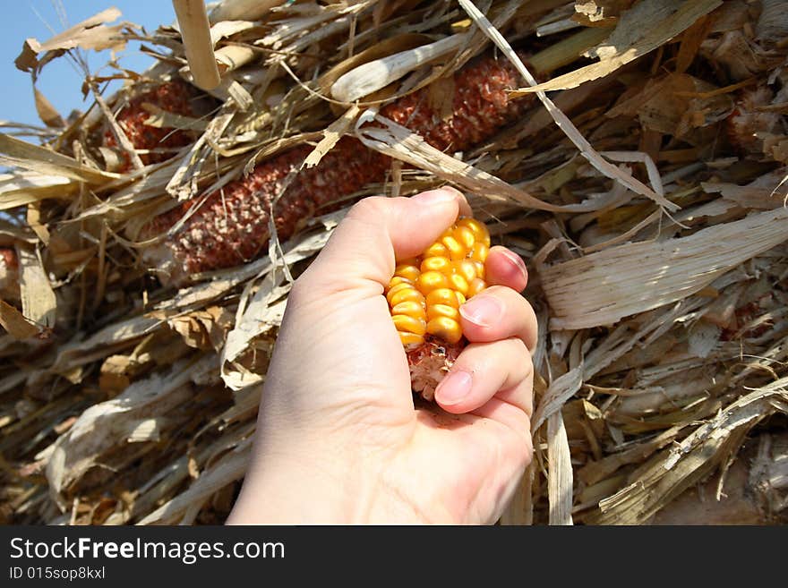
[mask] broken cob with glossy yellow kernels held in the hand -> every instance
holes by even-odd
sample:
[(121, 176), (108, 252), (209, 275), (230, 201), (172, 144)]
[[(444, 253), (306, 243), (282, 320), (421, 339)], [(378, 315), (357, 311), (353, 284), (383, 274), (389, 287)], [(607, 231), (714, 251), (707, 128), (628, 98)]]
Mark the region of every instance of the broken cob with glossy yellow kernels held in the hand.
[(435, 387), (465, 346), (459, 307), (487, 287), (487, 227), (460, 218), (420, 256), (402, 260), (386, 287), (391, 319), (405, 346), (411, 384), (432, 400)]

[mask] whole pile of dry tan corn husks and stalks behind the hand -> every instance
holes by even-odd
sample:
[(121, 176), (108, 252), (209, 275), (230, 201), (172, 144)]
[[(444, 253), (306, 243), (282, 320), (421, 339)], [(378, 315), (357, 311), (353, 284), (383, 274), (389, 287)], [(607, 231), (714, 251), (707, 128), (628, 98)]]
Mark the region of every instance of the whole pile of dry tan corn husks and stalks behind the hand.
[[(16, 61), (35, 85), (130, 40), (157, 60), (2, 124), (0, 522), (223, 522), (292, 278), (353, 201), (445, 183), (540, 320), (501, 523), (785, 520), (783, 0), (225, 0), (210, 93), (175, 27), (119, 16)], [(513, 122), (441, 142), (492, 56)]]

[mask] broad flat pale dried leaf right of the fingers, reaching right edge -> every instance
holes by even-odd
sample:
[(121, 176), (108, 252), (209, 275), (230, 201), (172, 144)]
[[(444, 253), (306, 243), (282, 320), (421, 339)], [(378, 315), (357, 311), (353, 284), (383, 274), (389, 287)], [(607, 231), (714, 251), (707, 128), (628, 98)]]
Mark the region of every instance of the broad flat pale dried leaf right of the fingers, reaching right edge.
[(540, 268), (554, 311), (551, 328), (612, 325), (681, 300), (742, 261), (783, 243), (786, 235), (788, 210), (778, 209), (688, 237), (630, 243)]

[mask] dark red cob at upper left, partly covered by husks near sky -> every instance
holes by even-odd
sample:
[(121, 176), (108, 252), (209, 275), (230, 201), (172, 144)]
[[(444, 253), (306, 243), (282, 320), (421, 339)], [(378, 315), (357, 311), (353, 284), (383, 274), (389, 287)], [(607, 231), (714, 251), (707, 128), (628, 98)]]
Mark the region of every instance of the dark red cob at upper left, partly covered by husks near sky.
[[(184, 147), (192, 141), (189, 132), (176, 131), (172, 128), (158, 128), (145, 124), (145, 120), (150, 117), (150, 112), (142, 107), (143, 104), (150, 103), (167, 112), (176, 115), (193, 115), (190, 103), (194, 91), (192, 87), (184, 81), (168, 81), (159, 84), (153, 89), (132, 98), (127, 105), (116, 115), (117, 123), (124, 130), (126, 136), (131, 141), (134, 149), (176, 149)], [(115, 135), (107, 129), (103, 135), (103, 145), (108, 149), (118, 149)], [(124, 173), (132, 167), (129, 154), (119, 151), (120, 166), (118, 172)], [(140, 159), (146, 166), (165, 161), (172, 157), (171, 153), (142, 153)]]

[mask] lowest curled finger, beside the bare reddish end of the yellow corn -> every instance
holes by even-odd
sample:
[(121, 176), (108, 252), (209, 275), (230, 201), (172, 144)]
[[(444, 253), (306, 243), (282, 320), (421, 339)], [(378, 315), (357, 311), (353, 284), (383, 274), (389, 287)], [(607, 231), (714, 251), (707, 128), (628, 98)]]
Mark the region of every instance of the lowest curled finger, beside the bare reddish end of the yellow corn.
[[(468, 345), (438, 388), (435, 401), (449, 413), (468, 413), (481, 407), (492, 418), (527, 423), (533, 404), (531, 354), (521, 339)], [(492, 398), (496, 403), (488, 405)], [(505, 405), (509, 405), (506, 408)], [(515, 407), (518, 411), (511, 411)]]

